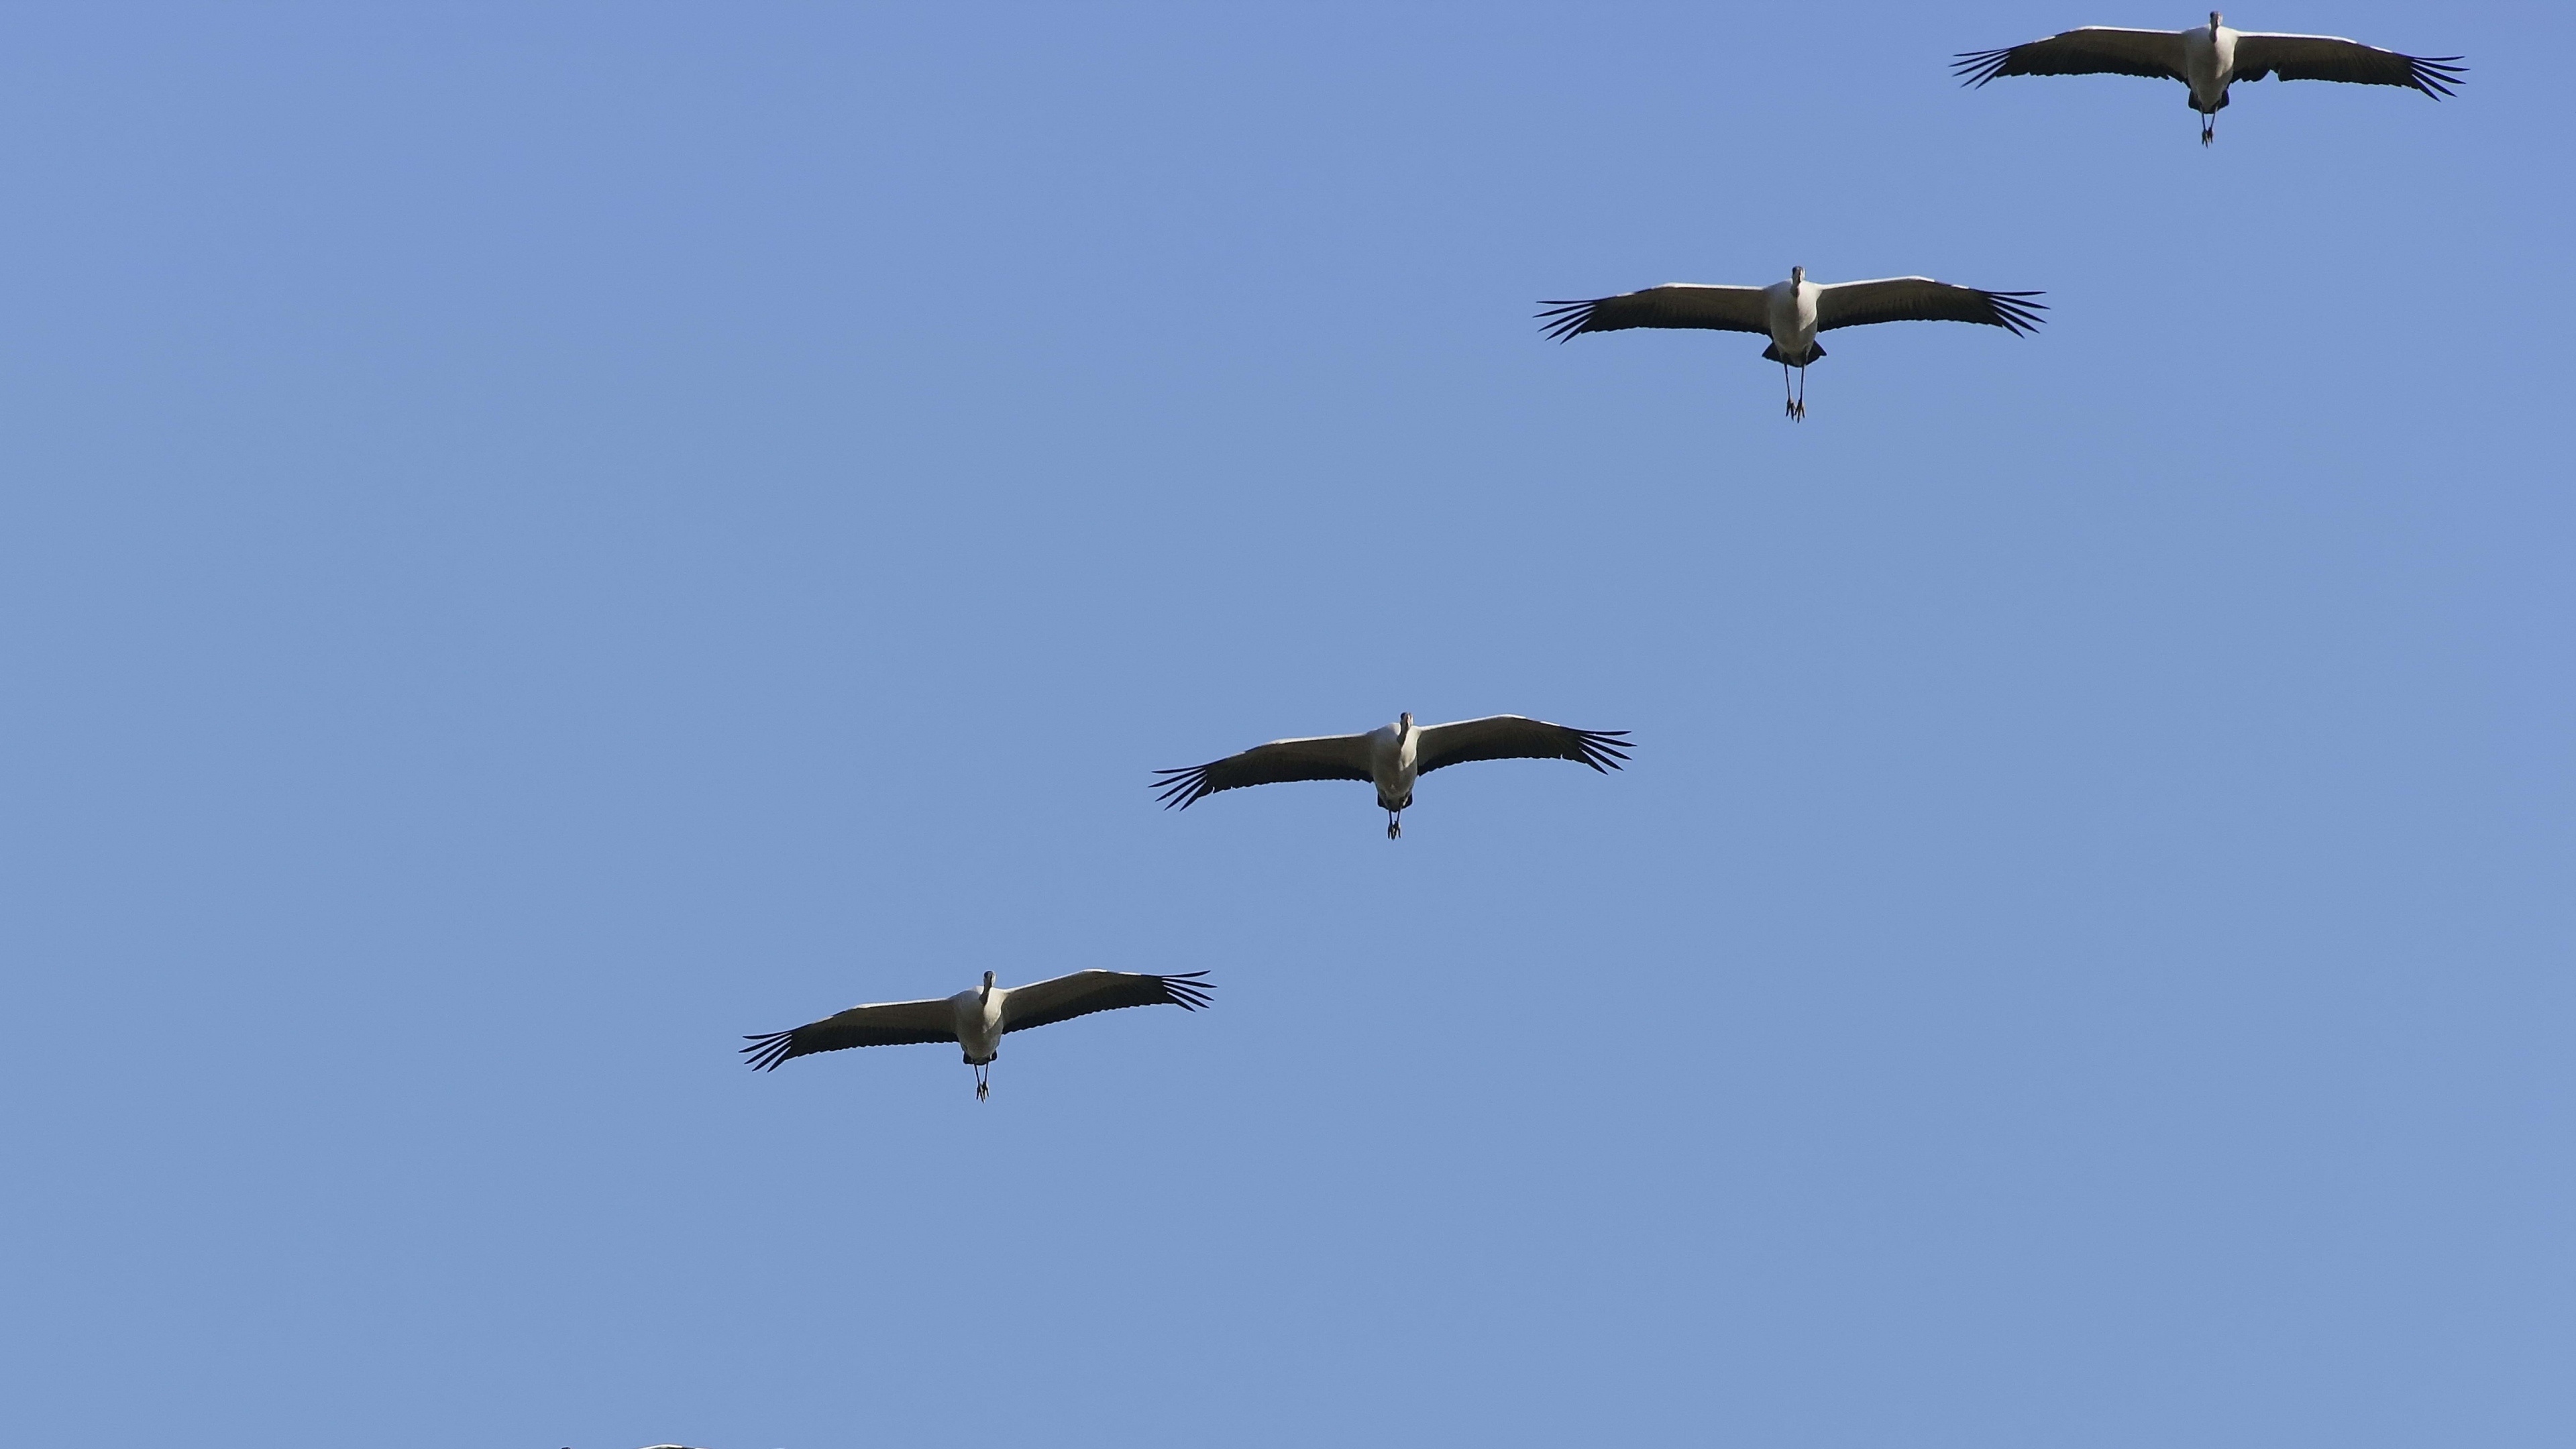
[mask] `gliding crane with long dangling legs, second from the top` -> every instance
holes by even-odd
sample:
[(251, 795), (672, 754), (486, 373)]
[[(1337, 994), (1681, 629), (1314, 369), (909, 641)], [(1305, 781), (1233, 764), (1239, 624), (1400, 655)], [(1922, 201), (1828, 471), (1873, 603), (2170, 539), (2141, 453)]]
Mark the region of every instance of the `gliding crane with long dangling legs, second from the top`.
[[(1788, 268), (1788, 281), (1770, 286), (1700, 286), (1667, 281), (1646, 291), (1623, 291), (1592, 302), (1540, 302), (1543, 333), (1558, 343), (1582, 333), (1620, 333), (1625, 327), (1705, 327), (1710, 333), (1770, 333), (1765, 361), (1780, 364), (1780, 392), (1793, 420), (1806, 418), (1806, 369), (1824, 358), (1816, 333), (1865, 327), (1870, 322), (1984, 322), (2012, 335), (2040, 330), (2045, 302), (2038, 291), (1978, 291), (1929, 276), (1888, 276), (1880, 281), (1808, 281), (1803, 266)], [(1788, 392), (1788, 369), (1798, 369), (1798, 392)]]

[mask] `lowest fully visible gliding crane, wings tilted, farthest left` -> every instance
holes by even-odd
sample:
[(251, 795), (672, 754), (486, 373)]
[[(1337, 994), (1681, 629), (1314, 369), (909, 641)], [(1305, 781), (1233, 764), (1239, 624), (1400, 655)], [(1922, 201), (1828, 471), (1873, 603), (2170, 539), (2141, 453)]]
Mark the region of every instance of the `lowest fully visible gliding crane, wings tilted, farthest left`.
[(806, 1021), (793, 1031), (744, 1036), (750, 1047), (742, 1052), (752, 1057), (755, 1073), (775, 1073), (778, 1062), (788, 1057), (840, 1052), (842, 1047), (956, 1042), (966, 1049), (966, 1065), (974, 1067), (974, 1098), (984, 1101), (984, 1093), (992, 1091), (992, 1060), (1002, 1055), (1005, 1031), (1028, 1031), (1030, 1026), (1072, 1021), (1095, 1011), (1118, 1011), (1121, 1006), (1198, 1011), (1208, 1006), (1208, 990), (1213, 987), (1213, 982), (1203, 980), (1206, 975), (1074, 972), (1069, 977), (1002, 987), (992, 985), (992, 972), (984, 972), (984, 985), (951, 998), (853, 1006), (822, 1021)]

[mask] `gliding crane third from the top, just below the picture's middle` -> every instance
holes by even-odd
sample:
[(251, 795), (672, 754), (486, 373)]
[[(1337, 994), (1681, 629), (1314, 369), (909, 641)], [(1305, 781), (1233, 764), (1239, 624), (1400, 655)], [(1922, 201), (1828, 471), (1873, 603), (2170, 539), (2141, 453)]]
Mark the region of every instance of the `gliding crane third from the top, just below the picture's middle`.
[(1625, 737), (1625, 730), (1574, 730), (1520, 714), (1486, 714), (1484, 719), (1425, 727), (1414, 724), (1412, 712), (1404, 712), (1396, 714), (1394, 724), (1381, 724), (1368, 735), (1270, 740), (1206, 766), (1154, 771), (1162, 776), (1154, 789), (1162, 792), (1164, 810), (1188, 810), (1200, 797), (1247, 784), (1365, 779), (1378, 786), (1386, 838), (1394, 841), (1404, 835), (1404, 810), (1414, 802), (1419, 776), (1468, 761), (1574, 761), (1610, 773), (1628, 758)]

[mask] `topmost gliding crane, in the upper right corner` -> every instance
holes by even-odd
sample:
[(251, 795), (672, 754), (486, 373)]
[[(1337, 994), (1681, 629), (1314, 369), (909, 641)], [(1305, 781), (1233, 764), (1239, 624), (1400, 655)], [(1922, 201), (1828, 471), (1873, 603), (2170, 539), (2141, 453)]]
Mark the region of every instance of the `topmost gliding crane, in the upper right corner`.
[(2228, 85), (2239, 80), (2349, 80), (2354, 85), (2409, 85), (2434, 101), (2463, 80), (2460, 57), (2419, 57), (2383, 52), (2342, 36), (2275, 36), (2231, 31), (2210, 10), (2208, 26), (2190, 31), (2117, 31), (2084, 26), (1996, 52), (1960, 52), (1953, 70), (1965, 85), (1986, 85), (1996, 75), (2146, 75), (2179, 80), (2190, 106), (2200, 111), (2200, 144), (2218, 137), (2218, 111), (2228, 106)]

